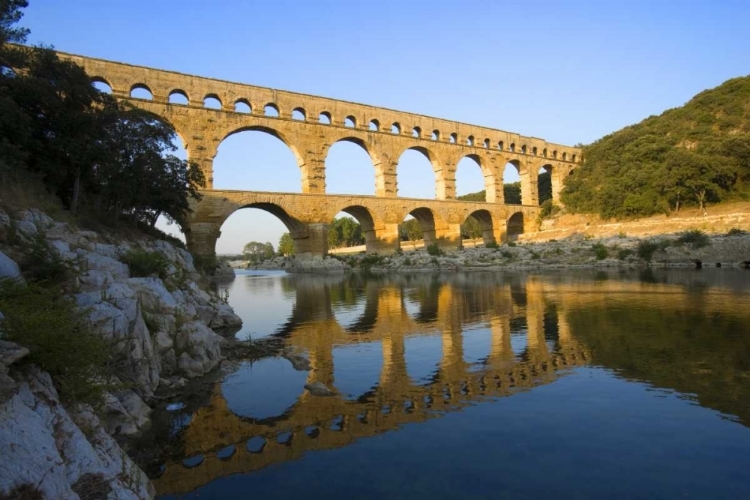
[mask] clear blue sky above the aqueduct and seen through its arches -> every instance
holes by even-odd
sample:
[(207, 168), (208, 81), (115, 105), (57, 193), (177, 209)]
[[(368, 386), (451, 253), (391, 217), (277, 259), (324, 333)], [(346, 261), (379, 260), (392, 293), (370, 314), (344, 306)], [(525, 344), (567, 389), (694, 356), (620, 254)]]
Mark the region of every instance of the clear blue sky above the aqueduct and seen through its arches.
[[(589, 143), (750, 71), (747, 0), (30, 0), (31, 43), (200, 76), (293, 90)], [(334, 145), (329, 192), (374, 194), (369, 157)], [(419, 153), (399, 194), (434, 198)], [(215, 187), (300, 192), (280, 141), (222, 143)], [(508, 172), (506, 181), (516, 180)], [(471, 160), (459, 194), (483, 189)], [(219, 253), (276, 245), (281, 222), (247, 209)]]

